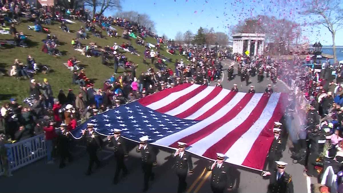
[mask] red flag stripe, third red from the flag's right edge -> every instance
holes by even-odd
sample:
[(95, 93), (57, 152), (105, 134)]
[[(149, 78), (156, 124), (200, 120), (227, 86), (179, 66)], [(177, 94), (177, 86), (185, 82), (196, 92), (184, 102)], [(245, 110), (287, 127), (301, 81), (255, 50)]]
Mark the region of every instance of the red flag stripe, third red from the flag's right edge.
[[(231, 92), (230, 92), (231, 93)], [(232, 92), (234, 93), (234, 92)], [(225, 123), (232, 120), (237, 114), (244, 109), (244, 107), (248, 104), (250, 99), (252, 98), (253, 94), (247, 93), (244, 95), (244, 97), (229, 111), (227, 112), (222, 118), (218, 119), (217, 121), (211, 123), (210, 125), (202, 128), (196, 133), (193, 133), (191, 135), (188, 135), (179, 141), (182, 141), (184, 143), (187, 143), (187, 145), (192, 145), (193, 143), (196, 143), (202, 138), (205, 138), (206, 136), (213, 133), (216, 129), (223, 126)], [(225, 103), (226, 104), (226, 103)], [(224, 105), (225, 105), (224, 104)], [(215, 112), (212, 112), (212, 114)], [(171, 147), (176, 147), (177, 142), (173, 143)]]

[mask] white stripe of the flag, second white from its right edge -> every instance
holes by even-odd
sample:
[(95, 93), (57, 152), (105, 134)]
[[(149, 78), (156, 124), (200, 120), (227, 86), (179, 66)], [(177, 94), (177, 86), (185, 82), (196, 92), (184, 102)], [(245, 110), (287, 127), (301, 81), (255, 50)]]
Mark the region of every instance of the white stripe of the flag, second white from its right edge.
[(207, 149), (216, 144), (219, 140), (242, 124), (249, 117), (250, 113), (252, 110), (254, 110), (262, 95), (263, 93), (255, 93), (248, 104), (232, 120), (216, 129), (210, 135), (192, 144), (187, 150), (198, 155), (203, 155)]

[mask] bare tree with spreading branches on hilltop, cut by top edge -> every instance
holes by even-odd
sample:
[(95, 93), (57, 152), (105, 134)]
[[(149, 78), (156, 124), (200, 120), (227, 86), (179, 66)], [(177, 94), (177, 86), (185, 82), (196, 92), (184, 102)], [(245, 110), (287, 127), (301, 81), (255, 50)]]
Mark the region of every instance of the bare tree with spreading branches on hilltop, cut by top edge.
[(93, 7), (93, 15), (96, 9), (100, 8), (99, 14), (103, 14), (105, 10), (121, 10), (121, 0), (85, 0), (85, 6)]

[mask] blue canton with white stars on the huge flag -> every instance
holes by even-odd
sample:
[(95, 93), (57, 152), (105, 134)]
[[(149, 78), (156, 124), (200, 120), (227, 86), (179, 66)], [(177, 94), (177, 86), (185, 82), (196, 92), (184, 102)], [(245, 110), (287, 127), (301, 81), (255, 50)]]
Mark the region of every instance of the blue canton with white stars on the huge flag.
[(149, 142), (153, 143), (198, 122), (159, 113), (136, 101), (89, 118), (71, 134), (76, 139), (81, 138), (81, 129), (86, 129), (87, 123), (93, 123), (95, 131), (100, 135), (113, 135), (113, 129), (117, 128), (122, 130), (123, 137), (139, 141), (140, 137), (147, 135)]

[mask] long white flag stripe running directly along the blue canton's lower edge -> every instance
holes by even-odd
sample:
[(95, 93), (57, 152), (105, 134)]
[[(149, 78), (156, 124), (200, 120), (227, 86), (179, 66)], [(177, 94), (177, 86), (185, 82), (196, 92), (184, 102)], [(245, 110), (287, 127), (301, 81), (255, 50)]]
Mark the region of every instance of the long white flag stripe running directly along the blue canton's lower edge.
[[(203, 129), (204, 127), (206, 127), (206, 126), (210, 125), (211, 123), (217, 121), (218, 119), (222, 118), (226, 113), (228, 113), (243, 98), (243, 96), (245, 96), (245, 94), (246, 93), (244, 93), (244, 92), (238, 92), (232, 100), (230, 100), (227, 104), (225, 104), (220, 110), (213, 113), (213, 115), (209, 116), (208, 118), (205, 118), (204, 120), (186, 128), (184, 130), (181, 130), (177, 133), (163, 137), (163, 138), (155, 141), (153, 144), (169, 146), (169, 145), (175, 143), (176, 141), (178, 141), (178, 140), (180, 140), (180, 139), (182, 139), (188, 135), (191, 135), (193, 133), (198, 132), (199, 130)], [(262, 95), (260, 95), (259, 98), (261, 98), (261, 96)]]

